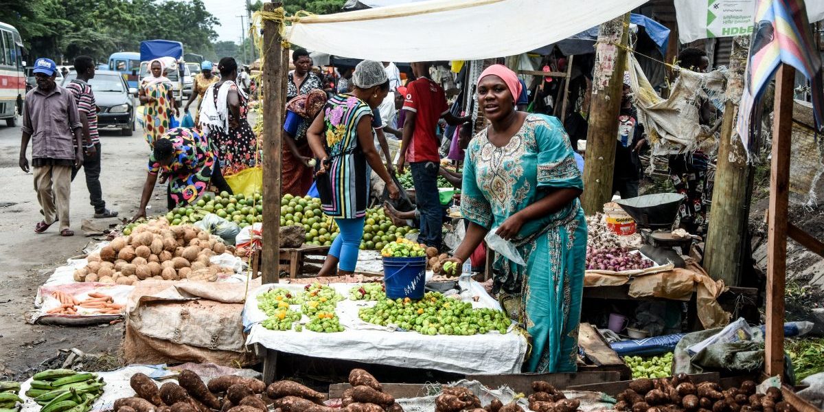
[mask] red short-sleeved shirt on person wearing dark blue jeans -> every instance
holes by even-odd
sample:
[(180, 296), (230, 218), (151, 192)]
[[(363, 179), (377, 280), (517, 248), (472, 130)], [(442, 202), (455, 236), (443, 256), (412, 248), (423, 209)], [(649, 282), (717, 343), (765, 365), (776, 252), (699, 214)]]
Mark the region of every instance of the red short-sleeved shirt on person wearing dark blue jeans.
[(408, 162), (440, 162), (435, 129), (438, 127), (438, 119), (449, 111), (443, 88), (438, 86), (438, 83), (421, 77), (406, 85), (406, 93), (403, 110), (417, 113), (414, 134), (406, 152), (406, 160)]

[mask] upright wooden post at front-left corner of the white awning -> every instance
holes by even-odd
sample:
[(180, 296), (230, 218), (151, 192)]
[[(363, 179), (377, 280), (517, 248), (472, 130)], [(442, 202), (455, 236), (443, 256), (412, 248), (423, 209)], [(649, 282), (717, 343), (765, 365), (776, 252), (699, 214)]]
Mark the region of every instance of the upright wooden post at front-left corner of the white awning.
[[(282, 3), (265, 3), (265, 12), (274, 12)], [(263, 283), (278, 283), (280, 277), (280, 154), (283, 133), (283, 96), (286, 72), (280, 21), (263, 21)]]

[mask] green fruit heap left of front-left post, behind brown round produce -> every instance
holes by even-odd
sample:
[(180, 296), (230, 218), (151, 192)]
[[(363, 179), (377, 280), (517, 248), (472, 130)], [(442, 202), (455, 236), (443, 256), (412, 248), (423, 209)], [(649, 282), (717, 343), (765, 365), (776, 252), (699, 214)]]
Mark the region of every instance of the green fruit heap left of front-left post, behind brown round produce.
[(181, 225), (198, 222), (208, 213), (235, 222), (240, 227), (247, 227), (255, 222), (263, 222), (263, 196), (260, 192), (249, 197), (242, 193), (228, 194), (226, 191), (217, 196), (207, 192), (189, 206), (172, 209), (166, 213), (166, 219), (172, 225)]

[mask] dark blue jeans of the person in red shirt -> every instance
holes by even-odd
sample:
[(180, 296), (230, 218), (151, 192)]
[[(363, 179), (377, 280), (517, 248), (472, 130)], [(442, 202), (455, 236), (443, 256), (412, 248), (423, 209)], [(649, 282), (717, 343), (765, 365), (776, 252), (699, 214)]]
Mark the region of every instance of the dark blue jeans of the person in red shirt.
[(443, 208), (438, 194), (437, 162), (410, 163), (414, 182), (415, 202), (420, 211), (420, 234), (418, 242), (426, 246), (441, 248)]

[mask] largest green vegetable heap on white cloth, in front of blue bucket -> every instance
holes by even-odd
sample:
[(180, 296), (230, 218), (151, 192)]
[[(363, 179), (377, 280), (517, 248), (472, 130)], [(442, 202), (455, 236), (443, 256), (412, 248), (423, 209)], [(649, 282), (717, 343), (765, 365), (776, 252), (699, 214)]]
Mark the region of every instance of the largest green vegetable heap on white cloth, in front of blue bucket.
[(473, 309), (470, 302), (438, 292), (426, 293), (419, 301), (409, 297), (379, 300), (374, 307), (361, 309), (358, 317), (374, 325), (397, 325), (424, 335), (482, 335), (490, 330), (505, 334), (512, 323), (503, 311)]

